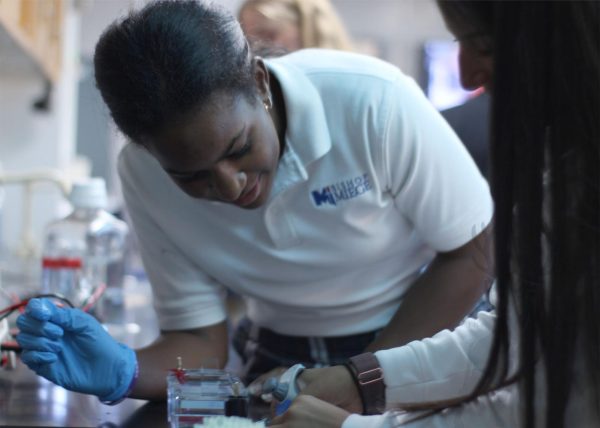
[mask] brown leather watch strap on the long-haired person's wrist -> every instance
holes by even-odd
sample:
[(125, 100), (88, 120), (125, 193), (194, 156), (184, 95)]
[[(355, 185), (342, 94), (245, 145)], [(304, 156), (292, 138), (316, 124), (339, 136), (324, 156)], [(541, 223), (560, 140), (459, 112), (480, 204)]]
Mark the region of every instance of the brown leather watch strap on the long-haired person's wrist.
[(377, 415), (385, 410), (385, 383), (379, 361), (371, 352), (351, 357), (346, 367), (352, 373), (360, 398), (363, 414)]

